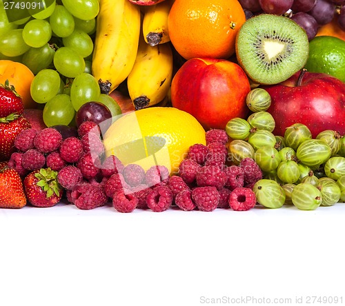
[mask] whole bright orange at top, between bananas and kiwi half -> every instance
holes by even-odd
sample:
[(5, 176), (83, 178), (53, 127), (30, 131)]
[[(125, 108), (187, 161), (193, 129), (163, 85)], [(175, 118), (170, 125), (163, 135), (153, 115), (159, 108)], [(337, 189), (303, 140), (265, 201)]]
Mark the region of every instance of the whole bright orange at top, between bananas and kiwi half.
[(170, 41), (184, 59), (228, 59), (246, 21), (237, 0), (175, 0), (168, 16)]

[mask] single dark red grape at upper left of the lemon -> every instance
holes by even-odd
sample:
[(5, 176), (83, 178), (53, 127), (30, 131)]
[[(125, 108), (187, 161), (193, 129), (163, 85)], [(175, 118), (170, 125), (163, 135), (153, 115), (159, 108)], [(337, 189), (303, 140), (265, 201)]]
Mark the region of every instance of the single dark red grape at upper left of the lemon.
[(106, 105), (99, 102), (87, 102), (77, 111), (75, 123), (79, 127), (83, 121), (92, 121), (97, 125), (103, 124), (103, 128), (107, 130), (111, 124), (111, 120), (108, 119), (111, 118), (112, 114)]

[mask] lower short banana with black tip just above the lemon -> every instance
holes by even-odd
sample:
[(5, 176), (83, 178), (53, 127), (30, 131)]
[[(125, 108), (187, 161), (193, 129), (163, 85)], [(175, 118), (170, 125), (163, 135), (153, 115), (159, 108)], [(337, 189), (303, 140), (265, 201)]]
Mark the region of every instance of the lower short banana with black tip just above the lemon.
[(130, 99), (136, 110), (161, 102), (170, 89), (172, 50), (170, 43), (148, 45), (139, 39), (137, 58), (127, 78)]

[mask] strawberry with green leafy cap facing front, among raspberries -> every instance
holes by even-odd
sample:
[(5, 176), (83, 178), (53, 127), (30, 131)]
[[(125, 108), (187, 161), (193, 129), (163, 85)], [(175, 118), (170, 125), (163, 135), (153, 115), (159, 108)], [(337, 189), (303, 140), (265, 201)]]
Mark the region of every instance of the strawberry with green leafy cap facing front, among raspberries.
[(50, 168), (34, 170), (23, 181), (26, 198), (36, 207), (52, 207), (59, 203), (63, 188), (57, 181), (57, 171)]

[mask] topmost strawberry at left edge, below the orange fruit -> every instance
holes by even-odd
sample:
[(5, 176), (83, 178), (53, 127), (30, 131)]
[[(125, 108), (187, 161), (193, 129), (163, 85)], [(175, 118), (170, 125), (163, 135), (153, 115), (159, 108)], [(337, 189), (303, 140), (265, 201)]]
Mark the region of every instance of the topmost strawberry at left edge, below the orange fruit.
[(0, 84), (0, 118), (9, 114), (23, 114), (24, 104), (21, 96), (17, 94), (13, 85), (6, 80), (5, 84)]

